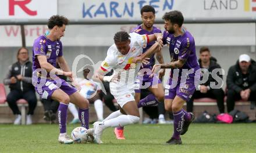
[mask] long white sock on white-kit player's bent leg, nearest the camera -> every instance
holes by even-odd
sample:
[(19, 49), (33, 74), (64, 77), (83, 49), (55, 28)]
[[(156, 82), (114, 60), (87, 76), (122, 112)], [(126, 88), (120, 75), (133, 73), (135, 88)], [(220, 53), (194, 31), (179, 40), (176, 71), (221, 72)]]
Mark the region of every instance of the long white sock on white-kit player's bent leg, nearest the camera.
[(137, 123), (140, 120), (139, 117), (133, 115), (120, 115), (116, 118), (109, 119), (104, 121), (104, 128), (108, 127), (118, 127), (118, 126), (125, 126)]

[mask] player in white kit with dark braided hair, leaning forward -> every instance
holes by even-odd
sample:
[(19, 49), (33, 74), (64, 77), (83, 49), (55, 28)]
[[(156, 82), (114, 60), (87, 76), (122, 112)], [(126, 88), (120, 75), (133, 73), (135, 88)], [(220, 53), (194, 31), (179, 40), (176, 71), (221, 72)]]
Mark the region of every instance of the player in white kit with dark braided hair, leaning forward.
[[(134, 81), (141, 67), (141, 63), (137, 62), (141, 61), (141, 57), (149, 57), (152, 53), (158, 52), (160, 46), (155, 43), (140, 56), (147, 43), (155, 41), (158, 37), (161, 37), (161, 34), (140, 35), (135, 32), (128, 34), (124, 31), (115, 34), (115, 44), (108, 49), (105, 60), (94, 74), (94, 79), (110, 82), (111, 93), (118, 102), (120, 111), (113, 112), (102, 122), (94, 123), (95, 143), (102, 143), (101, 135), (104, 129), (130, 125), (139, 121), (140, 114), (134, 100)], [(112, 69), (114, 70), (112, 76), (104, 76)]]

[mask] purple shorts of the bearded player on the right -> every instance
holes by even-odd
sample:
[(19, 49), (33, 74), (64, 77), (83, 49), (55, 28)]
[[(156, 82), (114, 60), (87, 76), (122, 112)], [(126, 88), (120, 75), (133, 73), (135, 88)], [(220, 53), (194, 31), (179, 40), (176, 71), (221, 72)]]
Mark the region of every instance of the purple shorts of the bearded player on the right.
[(186, 83), (172, 83), (169, 79), (168, 85), (165, 85), (165, 99), (174, 99), (175, 96), (181, 97), (185, 101), (189, 101), (195, 92), (195, 83), (193, 80), (187, 80)]

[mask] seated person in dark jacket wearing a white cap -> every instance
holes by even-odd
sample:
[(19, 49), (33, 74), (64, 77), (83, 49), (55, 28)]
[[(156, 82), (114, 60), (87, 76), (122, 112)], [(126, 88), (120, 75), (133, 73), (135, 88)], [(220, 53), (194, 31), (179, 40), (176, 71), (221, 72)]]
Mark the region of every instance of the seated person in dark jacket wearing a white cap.
[(256, 100), (256, 64), (247, 54), (241, 54), (227, 74), (227, 112), (234, 110), (236, 100)]

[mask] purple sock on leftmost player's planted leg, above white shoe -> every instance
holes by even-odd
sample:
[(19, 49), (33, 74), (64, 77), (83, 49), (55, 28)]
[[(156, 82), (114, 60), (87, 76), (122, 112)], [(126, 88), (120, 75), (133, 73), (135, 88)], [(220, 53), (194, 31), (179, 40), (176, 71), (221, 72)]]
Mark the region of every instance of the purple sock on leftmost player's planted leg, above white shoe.
[(59, 133), (66, 133), (68, 106), (69, 106), (68, 104), (59, 103), (59, 108), (58, 108)]

